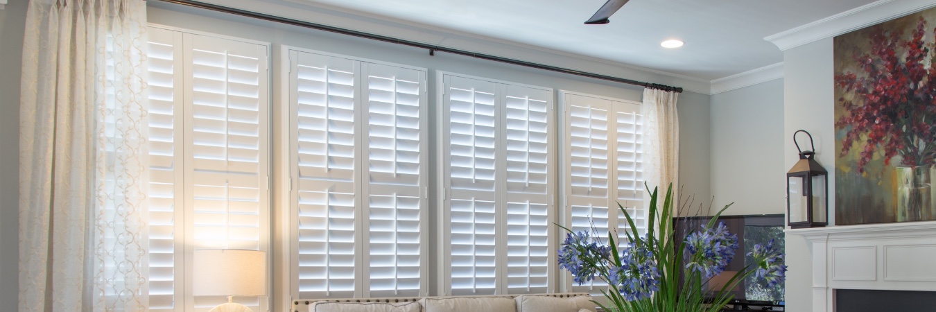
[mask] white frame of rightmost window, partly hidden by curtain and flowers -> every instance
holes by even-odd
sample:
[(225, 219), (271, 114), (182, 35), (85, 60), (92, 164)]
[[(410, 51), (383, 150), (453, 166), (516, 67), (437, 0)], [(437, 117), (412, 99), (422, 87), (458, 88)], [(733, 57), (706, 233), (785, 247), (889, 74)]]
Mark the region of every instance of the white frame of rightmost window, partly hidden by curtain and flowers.
[[(568, 144), (571, 143), (570, 140), (569, 140), (569, 136), (571, 135), (571, 125), (569, 124), (569, 122), (570, 122), (570, 121), (569, 121), (569, 107), (570, 107), (571, 104), (568, 103), (567, 96), (592, 97), (592, 98), (595, 98), (595, 99), (598, 99), (598, 100), (607, 100), (607, 101), (611, 101), (611, 103), (610, 103), (611, 105), (613, 105), (614, 102), (618, 102), (618, 103), (622, 103), (622, 104), (629, 104), (629, 105), (636, 105), (636, 106), (642, 106), (642, 105), (643, 105), (643, 103), (641, 103), (641, 102), (633, 101), (633, 100), (626, 100), (626, 99), (622, 99), (622, 98), (601, 97), (601, 96), (595, 96), (595, 95), (590, 95), (590, 94), (585, 94), (585, 93), (578, 93), (578, 92), (574, 92), (574, 91), (560, 90), (560, 91), (558, 92), (558, 96), (557, 96), (557, 97), (558, 97), (558, 101), (559, 101), (559, 107), (560, 107), (560, 112), (559, 112), (559, 116), (560, 116), (560, 128), (561, 128), (561, 131), (562, 131), (562, 133), (561, 133), (561, 135), (560, 135), (560, 146), (567, 146)], [(611, 107), (609, 107), (609, 108), (608, 108), (608, 112), (610, 113), (610, 112), (617, 112), (617, 111), (616, 111), (616, 110), (613, 110)], [(636, 113), (639, 113), (639, 111), (635, 111), (635, 112), (636, 112)], [(609, 230), (616, 230), (616, 231), (618, 231), (618, 237), (617, 237), (616, 239), (619, 240), (618, 243), (619, 243), (619, 245), (620, 245), (620, 243), (621, 243), (621, 238), (622, 238), (622, 237), (626, 237), (626, 235), (621, 231), (621, 224), (620, 224), (620, 222), (623, 220), (624, 216), (623, 216), (623, 215), (620, 215), (620, 214), (621, 214), (621, 209), (620, 209), (620, 207), (618, 207), (618, 201), (617, 201), (617, 199), (619, 198), (619, 196), (618, 196), (618, 192), (619, 192), (619, 188), (618, 188), (618, 170), (617, 170), (617, 168), (618, 168), (618, 166), (617, 166), (617, 163), (618, 163), (618, 146), (617, 146), (617, 140), (616, 140), (616, 139), (617, 139), (617, 134), (618, 134), (618, 133), (617, 133), (617, 125), (616, 125), (617, 122), (616, 122), (616, 121), (613, 121), (611, 117), (612, 117), (612, 116), (609, 114), (609, 115), (608, 115), (608, 130), (607, 130), (607, 132), (608, 132), (608, 138), (607, 138), (607, 141), (608, 141), (608, 156), (607, 156), (607, 157), (608, 157), (608, 165), (607, 165), (607, 166), (608, 166), (608, 181), (607, 181), (607, 184), (608, 184), (608, 188), (607, 188), (607, 192), (608, 192), (608, 194), (607, 194), (608, 220), (607, 220), (607, 222), (608, 222), (608, 229), (609, 229)], [(613, 124), (613, 125), (614, 125), (613, 128), (611, 127), (612, 122), (614, 123), (614, 124)], [(642, 143), (642, 142), (641, 142), (641, 143)], [(570, 148), (563, 148), (563, 149), (560, 149), (560, 151), (561, 151), (561, 153), (562, 153), (561, 160), (560, 160), (560, 171), (561, 171), (561, 175), (560, 175), (560, 178), (559, 178), (559, 180), (560, 180), (560, 187), (561, 187), (559, 193), (562, 194), (562, 196), (561, 196), (561, 206), (560, 206), (560, 207), (561, 207), (560, 210), (562, 211), (562, 214), (561, 214), (561, 215), (562, 215), (562, 220), (561, 220), (561, 222), (562, 222), (562, 224), (563, 224), (563, 227), (572, 229), (572, 228), (571, 228), (571, 224), (570, 224), (570, 222), (571, 222), (571, 220), (572, 220), (572, 209), (571, 209), (571, 203), (569, 202), (569, 196), (571, 196), (571, 194), (572, 194), (572, 190), (571, 190), (571, 186), (572, 186), (572, 185), (571, 185), (570, 181), (568, 181), (568, 180), (569, 180), (568, 177), (569, 177), (569, 175), (571, 174), (571, 172), (570, 172), (570, 171), (571, 171), (571, 167), (570, 167), (570, 166), (571, 166), (571, 160), (569, 159), (569, 157), (571, 156), (571, 149), (570, 149)], [(644, 161), (646, 161), (646, 159), (644, 159)], [(613, 169), (613, 170), (612, 170), (612, 169)], [(642, 172), (642, 171), (641, 171), (641, 172)], [(642, 186), (643, 184), (641, 183), (640, 185)], [(646, 194), (646, 191), (644, 191), (644, 196), (643, 196), (643, 198), (644, 198), (644, 201), (643, 201), (643, 209), (644, 209), (645, 214), (646, 214), (646, 211), (647, 211), (648, 206), (649, 206), (648, 195)], [(623, 220), (623, 221), (626, 222), (626, 220)], [(645, 230), (646, 230), (646, 229), (645, 229)], [(607, 235), (607, 233), (599, 233), (599, 234), (600, 234), (600, 235)], [(562, 241), (562, 240), (564, 240), (564, 237), (565, 237), (565, 230), (562, 230), (561, 235), (560, 235), (560, 237), (559, 237), (558, 239), (559, 239), (560, 241)], [(560, 279), (561, 279), (561, 285), (562, 285), (562, 289), (563, 289), (562, 291), (564, 291), (564, 292), (573, 291), (573, 280), (572, 280), (572, 275), (570, 275), (568, 272), (563, 272), (563, 274), (560, 275)], [(583, 285), (583, 287), (584, 287), (584, 285)], [(596, 287), (597, 287), (597, 286), (596, 286)], [(597, 292), (597, 291), (594, 291), (594, 292)], [(600, 295), (600, 294), (599, 294), (599, 295)]]

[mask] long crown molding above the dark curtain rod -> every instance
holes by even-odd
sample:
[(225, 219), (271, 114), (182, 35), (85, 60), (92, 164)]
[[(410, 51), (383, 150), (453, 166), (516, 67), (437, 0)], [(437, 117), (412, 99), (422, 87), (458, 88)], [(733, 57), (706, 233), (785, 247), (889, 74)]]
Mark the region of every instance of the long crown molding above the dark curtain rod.
[(569, 52), (560, 52), (518, 42), (484, 37), (416, 22), (390, 19), (339, 7), (322, 6), (311, 1), (287, 0), (199, 0), (212, 5), (234, 7), (275, 15), (288, 19), (316, 22), (334, 27), (399, 37), (448, 48), (486, 53), (527, 62), (549, 64), (576, 70), (637, 81), (680, 86), (685, 91), (709, 95), (708, 80), (665, 72), (645, 67), (593, 58)]

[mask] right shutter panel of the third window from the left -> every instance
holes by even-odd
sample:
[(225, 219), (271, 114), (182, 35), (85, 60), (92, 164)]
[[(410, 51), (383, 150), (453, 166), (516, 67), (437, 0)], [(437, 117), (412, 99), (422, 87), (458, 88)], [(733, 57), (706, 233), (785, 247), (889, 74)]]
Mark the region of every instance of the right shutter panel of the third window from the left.
[(548, 244), (552, 93), (516, 85), (503, 90), (507, 293), (546, 293), (555, 253)]

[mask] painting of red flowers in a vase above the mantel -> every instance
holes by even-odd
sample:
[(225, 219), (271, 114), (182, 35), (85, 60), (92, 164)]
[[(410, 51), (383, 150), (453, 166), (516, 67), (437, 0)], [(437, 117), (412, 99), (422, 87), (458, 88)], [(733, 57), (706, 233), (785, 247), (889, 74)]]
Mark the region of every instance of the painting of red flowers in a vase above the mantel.
[(936, 220), (936, 8), (834, 45), (836, 224)]

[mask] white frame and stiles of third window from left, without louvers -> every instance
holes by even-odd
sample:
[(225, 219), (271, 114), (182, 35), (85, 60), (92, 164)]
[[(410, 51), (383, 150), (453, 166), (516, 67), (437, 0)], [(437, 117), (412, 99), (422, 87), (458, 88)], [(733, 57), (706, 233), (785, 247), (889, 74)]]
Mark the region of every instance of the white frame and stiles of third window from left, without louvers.
[[(503, 102), (503, 99), (502, 99), (503, 97), (505, 97), (505, 85), (513, 85), (513, 86), (519, 86), (519, 87), (539, 89), (539, 90), (547, 91), (550, 94), (550, 96), (548, 97), (547, 128), (552, 130), (548, 133), (548, 144), (550, 144), (550, 146), (548, 147), (548, 151), (550, 152), (548, 155), (548, 162), (551, 164), (551, 166), (548, 166), (548, 169), (550, 171), (548, 172), (548, 187), (547, 188), (549, 191), (552, 192), (552, 196), (550, 197), (550, 200), (549, 200), (550, 202), (548, 204), (548, 214), (549, 214), (548, 224), (549, 224), (550, 229), (547, 231), (548, 233), (547, 240), (548, 240), (548, 250), (550, 250), (550, 252), (548, 253), (548, 290), (547, 292), (549, 293), (555, 292), (558, 289), (557, 285), (559, 281), (557, 277), (557, 275), (559, 275), (559, 271), (558, 271), (559, 267), (556, 263), (557, 256), (556, 256), (556, 252), (554, 251), (554, 250), (557, 250), (556, 248), (558, 247), (557, 234), (558, 234), (559, 229), (558, 227), (555, 227), (555, 229), (553, 229), (554, 228), (553, 223), (556, 222), (557, 215), (559, 215), (558, 214), (559, 211), (556, 209), (557, 207), (556, 197), (559, 196), (557, 194), (559, 184), (557, 180), (557, 170), (556, 170), (558, 159), (555, 155), (556, 155), (556, 152), (559, 149), (561, 149), (561, 146), (562, 146), (561, 144), (556, 143), (557, 142), (556, 137), (557, 137), (557, 132), (558, 132), (559, 127), (556, 124), (557, 119), (555, 117), (556, 111), (557, 111), (555, 90), (552, 88), (543, 87), (543, 86), (524, 84), (524, 83), (518, 83), (518, 82), (506, 82), (506, 81), (495, 80), (495, 79), (490, 79), (490, 78), (485, 78), (485, 77), (477, 77), (477, 76), (453, 73), (449, 71), (435, 70), (434, 72), (435, 72), (435, 96), (436, 96), (435, 98), (436, 99), (435, 100), (436, 127), (435, 128), (436, 128), (436, 132), (438, 133), (438, 136), (436, 139), (436, 143), (438, 144), (437, 151), (436, 151), (436, 167), (435, 167), (436, 183), (434, 186), (436, 188), (436, 191), (435, 191), (436, 200), (437, 200), (436, 205), (438, 207), (436, 210), (437, 212), (436, 213), (436, 216), (437, 216), (436, 230), (437, 230), (437, 237), (439, 238), (437, 240), (437, 248), (436, 248), (437, 250), (436, 250), (436, 255), (435, 255), (436, 271), (437, 271), (436, 272), (437, 295), (449, 296), (452, 293), (451, 272), (450, 272), (451, 270), (450, 263), (451, 263), (451, 256), (452, 256), (451, 244), (450, 244), (450, 241), (451, 241), (451, 225), (450, 225), (451, 179), (449, 179), (449, 177), (451, 176), (451, 172), (450, 172), (450, 164), (449, 164), (449, 158), (448, 158), (448, 156), (451, 155), (451, 150), (450, 150), (450, 145), (449, 145), (449, 138), (446, 135), (450, 131), (450, 128), (449, 128), (450, 116), (448, 113), (449, 111), (448, 103), (446, 102), (446, 83), (445, 83), (446, 76), (461, 77), (461, 78), (472, 79), (472, 80), (477, 80), (477, 81), (497, 83), (498, 85), (496, 87), (497, 94), (495, 95), (495, 98), (496, 98), (495, 111), (499, 111), (498, 112), (499, 114), (498, 119), (500, 120), (499, 123), (503, 123), (505, 119), (505, 114), (500, 113), (503, 107), (505, 107), (505, 103)], [(502, 126), (498, 126), (498, 128), (502, 128)], [(497, 138), (496, 146), (498, 150), (501, 150), (502, 148), (505, 150), (504, 138), (505, 138), (505, 135), (503, 134)], [(506, 163), (505, 159), (498, 159), (497, 168), (505, 168), (504, 166), (505, 163)], [(503, 183), (503, 185), (499, 183), (498, 189), (500, 188), (505, 189), (506, 188), (505, 174), (501, 174), (501, 173), (497, 173), (497, 174), (500, 179), (503, 179), (503, 181), (501, 182)], [(505, 203), (507, 192), (505, 190), (495, 191), (495, 192), (500, 193), (502, 195), (502, 196), (497, 197), (497, 199)], [(496, 294), (506, 294), (507, 285), (508, 285), (507, 276), (506, 276), (507, 260), (505, 256), (506, 251), (507, 251), (506, 239), (505, 239), (506, 215), (507, 214), (505, 212), (505, 209), (506, 207), (502, 207), (501, 213), (499, 213), (498, 216), (495, 218), (496, 220), (495, 224), (498, 224), (498, 227), (497, 227), (498, 234), (496, 235), (497, 236), (496, 242), (504, 243), (504, 245), (498, 246), (498, 252), (504, 256), (498, 257), (497, 259), (498, 264), (497, 264), (497, 269), (496, 269), (496, 276), (498, 276), (499, 280), (496, 285), (496, 290), (495, 290)]]

